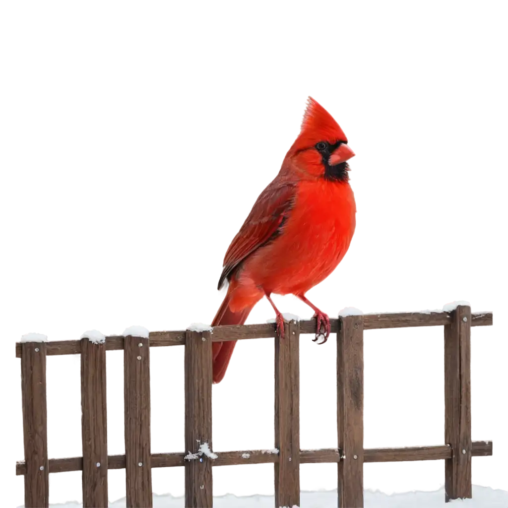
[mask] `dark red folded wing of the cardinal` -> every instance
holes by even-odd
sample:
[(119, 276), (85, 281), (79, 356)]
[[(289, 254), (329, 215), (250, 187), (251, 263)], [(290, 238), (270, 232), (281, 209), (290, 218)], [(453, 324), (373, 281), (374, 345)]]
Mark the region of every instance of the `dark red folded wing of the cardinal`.
[(224, 257), (217, 289), (223, 285), (237, 266), (279, 234), (288, 218), (296, 193), (293, 182), (272, 182), (259, 196), (245, 222)]

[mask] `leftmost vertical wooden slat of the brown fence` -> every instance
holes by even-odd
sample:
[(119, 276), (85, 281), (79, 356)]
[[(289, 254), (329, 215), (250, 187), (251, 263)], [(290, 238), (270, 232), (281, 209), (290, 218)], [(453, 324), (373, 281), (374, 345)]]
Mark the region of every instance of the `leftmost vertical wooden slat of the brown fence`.
[(21, 344), (24, 392), (25, 508), (49, 506), (46, 410), (46, 344)]

